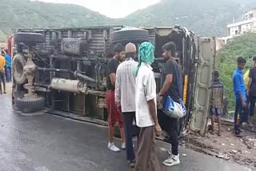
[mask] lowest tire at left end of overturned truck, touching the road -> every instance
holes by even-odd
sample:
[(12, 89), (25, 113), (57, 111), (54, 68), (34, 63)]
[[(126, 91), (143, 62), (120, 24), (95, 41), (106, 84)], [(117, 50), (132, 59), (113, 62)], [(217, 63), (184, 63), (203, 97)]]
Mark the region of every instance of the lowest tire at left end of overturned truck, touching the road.
[(15, 106), (24, 111), (25, 109), (42, 109), (43, 105), (45, 105), (44, 97), (31, 97), (31, 98), (23, 98), (17, 97), (15, 100)]

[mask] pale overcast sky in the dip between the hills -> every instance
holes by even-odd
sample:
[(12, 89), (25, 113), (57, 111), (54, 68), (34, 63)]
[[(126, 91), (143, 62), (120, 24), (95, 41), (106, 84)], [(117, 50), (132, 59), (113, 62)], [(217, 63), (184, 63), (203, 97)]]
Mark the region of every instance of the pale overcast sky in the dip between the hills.
[(72, 3), (85, 6), (110, 18), (123, 18), (135, 10), (146, 8), (160, 0), (39, 0), (42, 2)]

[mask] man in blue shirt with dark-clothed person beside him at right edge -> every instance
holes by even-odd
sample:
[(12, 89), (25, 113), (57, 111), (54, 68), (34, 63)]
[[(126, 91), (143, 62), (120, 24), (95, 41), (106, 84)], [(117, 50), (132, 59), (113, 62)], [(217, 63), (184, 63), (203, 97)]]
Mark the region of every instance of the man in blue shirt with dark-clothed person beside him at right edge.
[(233, 74), (233, 89), (235, 95), (234, 129), (236, 135), (240, 135), (240, 126), (243, 123), (252, 126), (250, 120), (254, 116), (256, 102), (256, 57), (253, 58), (253, 61), (254, 66), (250, 69), (250, 79), (247, 87), (242, 75), (242, 70), (246, 65), (245, 58), (239, 57), (237, 59), (238, 67), (234, 70)]

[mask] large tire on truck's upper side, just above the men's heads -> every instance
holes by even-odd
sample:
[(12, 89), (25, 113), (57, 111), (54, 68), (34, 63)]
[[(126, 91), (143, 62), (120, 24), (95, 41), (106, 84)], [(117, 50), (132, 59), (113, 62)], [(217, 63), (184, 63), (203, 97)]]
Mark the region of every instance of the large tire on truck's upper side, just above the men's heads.
[(112, 44), (142, 43), (146, 41), (149, 41), (149, 32), (142, 29), (118, 30), (110, 34), (110, 42)]

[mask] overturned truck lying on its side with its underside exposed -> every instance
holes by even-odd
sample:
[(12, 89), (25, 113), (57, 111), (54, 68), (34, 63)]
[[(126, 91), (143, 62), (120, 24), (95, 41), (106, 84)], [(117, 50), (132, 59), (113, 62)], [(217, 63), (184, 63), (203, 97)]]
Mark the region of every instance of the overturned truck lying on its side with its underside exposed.
[[(195, 39), (197, 41), (195, 41)], [(204, 133), (214, 70), (214, 38), (194, 38), (182, 26), (132, 28), (101, 26), (68, 29), (21, 29), (13, 35), (13, 101), (20, 110), (42, 106), (106, 120), (106, 64), (114, 45), (149, 41), (157, 91), (162, 85), (162, 46), (176, 43), (182, 96), (187, 115), (180, 128)]]

